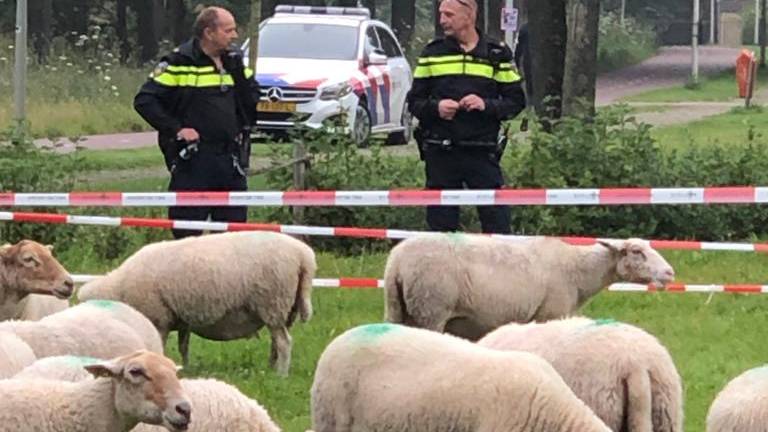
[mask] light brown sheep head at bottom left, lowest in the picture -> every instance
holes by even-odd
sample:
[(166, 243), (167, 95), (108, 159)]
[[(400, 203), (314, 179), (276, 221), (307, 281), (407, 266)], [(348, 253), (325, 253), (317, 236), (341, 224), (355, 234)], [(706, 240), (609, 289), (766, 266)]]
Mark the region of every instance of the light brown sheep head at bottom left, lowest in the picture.
[(168, 358), (141, 350), (85, 369), (97, 378), (116, 381), (115, 407), (122, 415), (170, 431), (189, 427), (192, 405), (176, 376), (176, 365)]

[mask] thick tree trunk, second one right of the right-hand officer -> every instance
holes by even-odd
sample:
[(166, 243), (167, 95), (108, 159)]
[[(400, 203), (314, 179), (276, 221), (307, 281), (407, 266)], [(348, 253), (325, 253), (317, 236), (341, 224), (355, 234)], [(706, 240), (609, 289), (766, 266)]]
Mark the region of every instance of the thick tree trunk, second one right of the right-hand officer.
[(563, 115), (591, 117), (595, 113), (600, 0), (569, 0), (568, 24)]

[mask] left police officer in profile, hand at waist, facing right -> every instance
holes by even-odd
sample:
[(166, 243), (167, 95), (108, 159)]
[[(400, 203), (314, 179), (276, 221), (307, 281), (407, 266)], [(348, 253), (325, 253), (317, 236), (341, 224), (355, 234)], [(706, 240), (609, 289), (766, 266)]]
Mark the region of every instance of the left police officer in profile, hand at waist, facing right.
[[(194, 37), (163, 57), (134, 99), (134, 108), (158, 130), (171, 173), (171, 191), (244, 191), (259, 89), (232, 43), (235, 19), (208, 7)], [(247, 207), (170, 207), (171, 219), (244, 222)], [(174, 230), (175, 238), (199, 231)]]

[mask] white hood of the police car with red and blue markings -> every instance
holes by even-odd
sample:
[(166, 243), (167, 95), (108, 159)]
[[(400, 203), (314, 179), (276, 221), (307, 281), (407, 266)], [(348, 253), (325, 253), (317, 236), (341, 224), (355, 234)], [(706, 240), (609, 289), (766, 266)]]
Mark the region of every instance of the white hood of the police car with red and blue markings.
[(317, 89), (350, 81), (359, 73), (357, 61), (259, 58), (256, 80), (265, 87)]

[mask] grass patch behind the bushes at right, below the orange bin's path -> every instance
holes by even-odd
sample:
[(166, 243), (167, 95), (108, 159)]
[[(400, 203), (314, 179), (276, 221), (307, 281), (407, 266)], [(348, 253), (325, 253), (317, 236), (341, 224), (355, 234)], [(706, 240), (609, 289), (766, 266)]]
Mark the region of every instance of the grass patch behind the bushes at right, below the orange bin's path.
[(768, 112), (762, 109), (734, 109), (705, 119), (653, 129), (662, 148), (683, 148), (696, 143), (719, 143), (725, 148), (744, 145), (749, 126), (756, 134), (768, 136)]

